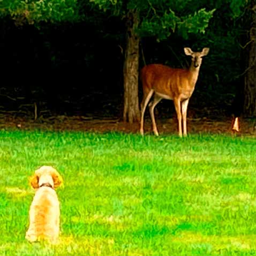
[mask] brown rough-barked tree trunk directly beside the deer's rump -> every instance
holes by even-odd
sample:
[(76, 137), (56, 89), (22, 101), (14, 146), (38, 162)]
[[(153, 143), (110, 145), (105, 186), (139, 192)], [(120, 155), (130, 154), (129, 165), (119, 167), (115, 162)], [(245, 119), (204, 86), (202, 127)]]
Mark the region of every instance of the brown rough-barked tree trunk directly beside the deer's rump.
[(129, 10), (126, 17), (126, 49), (124, 58), (124, 122), (139, 121), (139, 37), (135, 29), (139, 24), (137, 10)]

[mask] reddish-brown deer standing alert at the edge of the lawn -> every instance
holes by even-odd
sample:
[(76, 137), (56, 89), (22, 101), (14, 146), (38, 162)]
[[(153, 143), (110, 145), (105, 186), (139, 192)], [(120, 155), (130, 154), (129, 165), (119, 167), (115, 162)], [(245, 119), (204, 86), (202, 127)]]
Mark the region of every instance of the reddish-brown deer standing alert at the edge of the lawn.
[(192, 57), (189, 69), (174, 69), (162, 64), (149, 64), (141, 69), (141, 81), (143, 88), (143, 98), (140, 105), (141, 135), (144, 135), (145, 109), (154, 94), (153, 100), (148, 104), (154, 134), (156, 136), (159, 135), (155, 122), (154, 108), (162, 99), (166, 99), (174, 101), (178, 118), (179, 137), (187, 136), (187, 106), (198, 80), (202, 57), (208, 54), (209, 48), (204, 48), (200, 52), (193, 52), (189, 47), (185, 47), (184, 52), (185, 55)]

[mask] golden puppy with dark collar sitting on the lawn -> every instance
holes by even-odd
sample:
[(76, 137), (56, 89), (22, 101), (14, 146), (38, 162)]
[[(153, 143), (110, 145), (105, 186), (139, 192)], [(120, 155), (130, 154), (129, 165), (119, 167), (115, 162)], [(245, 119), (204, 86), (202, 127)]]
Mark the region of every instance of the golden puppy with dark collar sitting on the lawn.
[(60, 210), (55, 189), (63, 183), (63, 179), (54, 168), (42, 166), (35, 171), (30, 183), (36, 192), (29, 209), (26, 239), (29, 242), (47, 240), (56, 244)]

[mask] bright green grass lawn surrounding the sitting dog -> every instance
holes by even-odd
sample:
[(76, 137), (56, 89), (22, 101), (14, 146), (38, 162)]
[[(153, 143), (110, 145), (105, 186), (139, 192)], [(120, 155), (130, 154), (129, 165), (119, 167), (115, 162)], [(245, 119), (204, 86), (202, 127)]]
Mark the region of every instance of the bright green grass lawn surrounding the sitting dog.
[[(255, 142), (0, 131), (0, 255), (256, 255)], [(41, 165), (64, 178), (57, 246), (25, 240)]]

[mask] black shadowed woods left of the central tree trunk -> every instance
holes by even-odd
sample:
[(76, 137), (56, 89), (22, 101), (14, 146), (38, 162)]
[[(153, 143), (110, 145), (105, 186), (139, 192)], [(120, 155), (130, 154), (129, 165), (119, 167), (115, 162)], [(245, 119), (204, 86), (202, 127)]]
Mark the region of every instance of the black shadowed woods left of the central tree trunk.
[(36, 102), (44, 115), (85, 115), (122, 103), (122, 39), (86, 24), (39, 30), (6, 20), (1, 33), (1, 110), (25, 115)]

